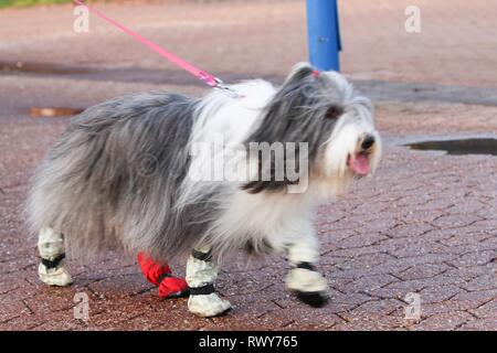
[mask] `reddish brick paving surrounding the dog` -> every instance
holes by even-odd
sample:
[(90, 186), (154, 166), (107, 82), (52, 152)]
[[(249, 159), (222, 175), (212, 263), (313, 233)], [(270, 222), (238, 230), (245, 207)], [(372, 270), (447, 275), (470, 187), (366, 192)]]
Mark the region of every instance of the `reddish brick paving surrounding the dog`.
[[(343, 28), (349, 29), (349, 34), (345, 34), (349, 45), (346, 72), (357, 79), (491, 87), (489, 83), (495, 82), (491, 77), (495, 72), (486, 68), (490, 63), (495, 64), (496, 57), (488, 54), (487, 45), (495, 44), (495, 38), (480, 34), (485, 32), (487, 15), (482, 15), (479, 22), (468, 20), (461, 24), (463, 29), (473, 29), (465, 32), (466, 35), (478, 35), (475, 51), (479, 55), (464, 52), (474, 60), (472, 67), (465, 66), (468, 71), (479, 68), (478, 75), (483, 75), (480, 72), (488, 74), (478, 85), (475, 75), (461, 71), (455, 63), (435, 69), (426, 62), (426, 57), (433, 62), (441, 60), (441, 54), (430, 45), (437, 35), (447, 41), (447, 50), (457, 52), (461, 49), (452, 47), (454, 39), (443, 35), (447, 28), (442, 21), (440, 3), (444, 1), (437, 1), (436, 6), (420, 2), (429, 19), (436, 21), (426, 24), (432, 36), (420, 39), (427, 41), (422, 43), (425, 57), (411, 57), (411, 64), (416, 68), (413, 69), (402, 61), (405, 52), (392, 44), (394, 39), (404, 38), (402, 31), (390, 31), (381, 54), (377, 54), (370, 64), (361, 60), (357, 53), (361, 52), (363, 43), (372, 40), (368, 38), (362, 42), (364, 34), (350, 35), (351, 29), (359, 31), (351, 17), (368, 13), (362, 7), (370, 2), (348, 1), (350, 4), (343, 9)], [(236, 3), (235, 9), (242, 7), (242, 12), (215, 2), (202, 11), (198, 6), (173, 6), (168, 8), (171, 22), (166, 24), (159, 22), (156, 6), (141, 6), (142, 10), (136, 17), (136, 11), (127, 12), (125, 7), (107, 6), (107, 10), (137, 25), (148, 23), (148, 26), (144, 25), (146, 33), (170, 42), (172, 50), (188, 53), (195, 62), (205, 62), (205, 68), (240, 77), (264, 75), (279, 81), (287, 66), (303, 58), (305, 42), (300, 33), (302, 2), (274, 3)], [(371, 13), (380, 19), (396, 19), (395, 7), (387, 1), (378, 3), (381, 6), (371, 9)], [(450, 14), (455, 18), (461, 18), (462, 13), (476, 18), (495, 13), (497, 9), (497, 6), (485, 8), (479, 4), (468, 14), (463, 1), (451, 1), (451, 4)], [(219, 8), (223, 9), (219, 23), (201, 20), (202, 12), (209, 14)], [(81, 65), (89, 71), (99, 65), (103, 67), (93, 76), (61, 75), (50, 71), (0, 72), (0, 330), (497, 330), (497, 158), (448, 157), (399, 146), (402, 141), (425, 136), (495, 135), (497, 107), (405, 103), (398, 100), (395, 95), (378, 103), (378, 122), (387, 142), (378, 173), (359, 181), (347, 197), (319, 210), (320, 268), (331, 287), (326, 308), (310, 309), (287, 295), (283, 286), (287, 265), (278, 258), (248, 267), (236, 261), (225, 264), (218, 288), (232, 301), (234, 310), (226, 317), (214, 319), (191, 315), (184, 299), (159, 300), (134, 260), (121, 259), (117, 254), (108, 254), (104, 260), (94, 264), (70, 263), (75, 277), (72, 287), (49, 288), (40, 284), (35, 240), (27, 238), (22, 202), (33, 168), (67, 119), (31, 118), (25, 111), (40, 105), (85, 107), (109, 96), (150, 88), (194, 94), (202, 88), (172, 69), (165, 71), (163, 82), (152, 79), (152, 83), (140, 81), (146, 72), (137, 67), (120, 72), (119, 65), (157, 69), (165, 64), (144, 54), (141, 49), (118, 34), (96, 31), (93, 35), (106, 41), (108, 49), (108, 53), (101, 52), (95, 41), (75, 36), (71, 28), (67, 30), (67, 20), (61, 20), (71, 14), (67, 11), (71, 11), (68, 7), (50, 11), (0, 11), (0, 22), (7, 23), (8, 29), (0, 33), (0, 62), (54, 62)], [(163, 8), (161, 11), (166, 13)], [(186, 17), (192, 19), (188, 28), (181, 24)], [(177, 22), (172, 21), (175, 18)], [(366, 15), (361, 14), (361, 18), (364, 25), (374, 23)], [(17, 31), (13, 25), (19, 24), (20, 19), (24, 19), (25, 22), (21, 21), (24, 26)], [(399, 21), (402, 19), (403, 9)], [(266, 21), (265, 26), (261, 24), (262, 20)], [(393, 28), (394, 21), (385, 23), (388, 30)], [(296, 25), (289, 28), (288, 23)], [(30, 25), (41, 29), (39, 41), (33, 41), (28, 31)], [(158, 31), (161, 26), (167, 31)], [(223, 34), (228, 29), (233, 36)], [(429, 32), (430, 29), (433, 32)], [(295, 35), (282, 35), (285, 31)], [(237, 39), (242, 32), (246, 33), (243, 46), (253, 51), (241, 51)], [(370, 33), (377, 39), (385, 35), (378, 28)], [(187, 43), (195, 43), (197, 35), (209, 36), (211, 50), (207, 51), (204, 43), (184, 49), (184, 42), (177, 38), (180, 34), (187, 38)], [(278, 51), (268, 47), (279, 42)], [(228, 60), (228, 47), (234, 49), (235, 60)], [(207, 52), (212, 55), (205, 55)], [(117, 54), (112, 53), (119, 53), (119, 65), (113, 63), (113, 55)], [(378, 55), (383, 55), (384, 66), (394, 74), (377, 69), (380, 65)], [(398, 63), (402, 64), (398, 66)], [(445, 75), (442, 74), (444, 71)], [(105, 75), (108, 78), (99, 78)], [(167, 84), (168, 77), (175, 77), (173, 85)], [(176, 267), (182, 270), (180, 265)], [(73, 317), (76, 292), (89, 297), (89, 321), (86, 323)], [(404, 320), (405, 296), (410, 292), (420, 295), (420, 321)]]

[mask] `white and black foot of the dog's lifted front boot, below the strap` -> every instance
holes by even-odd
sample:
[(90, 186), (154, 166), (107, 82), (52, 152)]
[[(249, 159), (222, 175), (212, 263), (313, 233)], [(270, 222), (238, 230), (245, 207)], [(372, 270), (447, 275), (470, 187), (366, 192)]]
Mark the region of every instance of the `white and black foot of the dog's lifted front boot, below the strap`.
[(294, 268), (286, 277), (286, 287), (300, 301), (314, 308), (324, 307), (328, 300), (326, 279), (314, 270)]

